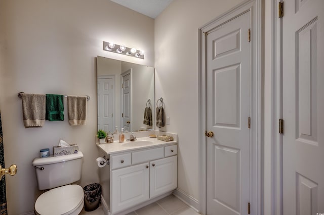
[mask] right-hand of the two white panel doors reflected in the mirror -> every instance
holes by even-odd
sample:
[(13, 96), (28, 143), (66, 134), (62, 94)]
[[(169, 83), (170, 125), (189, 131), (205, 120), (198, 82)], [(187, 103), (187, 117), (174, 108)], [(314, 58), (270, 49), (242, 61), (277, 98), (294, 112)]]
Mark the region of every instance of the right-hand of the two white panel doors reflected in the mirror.
[(121, 74), (121, 126), (124, 127), (124, 131), (131, 132), (131, 72), (132, 69)]

